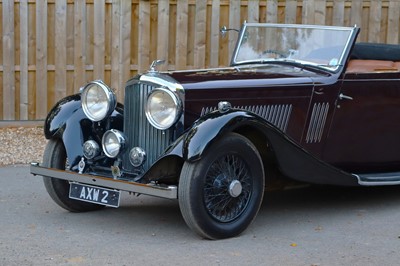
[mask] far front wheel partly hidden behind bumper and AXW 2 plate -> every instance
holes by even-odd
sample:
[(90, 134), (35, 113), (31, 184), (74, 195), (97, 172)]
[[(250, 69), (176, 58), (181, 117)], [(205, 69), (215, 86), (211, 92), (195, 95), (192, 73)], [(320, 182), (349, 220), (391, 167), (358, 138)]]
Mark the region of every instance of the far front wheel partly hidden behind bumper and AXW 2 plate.
[[(43, 155), (43, 166), (65, 170), (67, 155), (64, 144), (60, 140), (51, 139), (46, 145)], [(86, 212), (104, 208), (102, 205), (82, 202), (69, 198), (70, 184), (66, 180), (43, 177), (43, 182), (50, 197), (62, 208), (71, 212)]]

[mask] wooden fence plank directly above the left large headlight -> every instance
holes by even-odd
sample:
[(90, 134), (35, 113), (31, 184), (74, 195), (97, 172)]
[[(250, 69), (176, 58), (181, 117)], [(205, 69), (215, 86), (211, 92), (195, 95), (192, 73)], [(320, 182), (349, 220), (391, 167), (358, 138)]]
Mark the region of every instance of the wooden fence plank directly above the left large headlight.
[(93, 79), (104, 80), (105, 0), (94, 1), (93, 24)]

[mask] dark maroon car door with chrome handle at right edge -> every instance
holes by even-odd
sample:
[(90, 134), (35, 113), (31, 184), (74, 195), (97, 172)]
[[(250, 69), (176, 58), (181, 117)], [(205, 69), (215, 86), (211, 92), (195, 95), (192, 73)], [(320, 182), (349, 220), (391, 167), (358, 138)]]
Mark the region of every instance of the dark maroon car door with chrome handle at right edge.
[(323, 159), (352, 173), (399, 170), (400, 73), (347, 73)]

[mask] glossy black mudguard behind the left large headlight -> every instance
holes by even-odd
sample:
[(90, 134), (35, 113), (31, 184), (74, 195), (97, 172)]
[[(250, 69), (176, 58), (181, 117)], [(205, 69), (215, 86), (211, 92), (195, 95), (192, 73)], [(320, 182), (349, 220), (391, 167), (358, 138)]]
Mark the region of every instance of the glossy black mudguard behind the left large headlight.
[(89, 138), (101, 140), (102, 132), (115, 128), (123, 130), (123, 106), (117, 105), (112, 115), (101, 122), (92, 122), (81, 107), (81, 96), (75, 94), (61, 99), (49, 112), (44, 124), (47, 139), (63, 141), (70, 166), (83, 156), (82, 145)]

